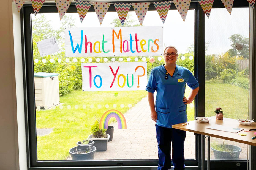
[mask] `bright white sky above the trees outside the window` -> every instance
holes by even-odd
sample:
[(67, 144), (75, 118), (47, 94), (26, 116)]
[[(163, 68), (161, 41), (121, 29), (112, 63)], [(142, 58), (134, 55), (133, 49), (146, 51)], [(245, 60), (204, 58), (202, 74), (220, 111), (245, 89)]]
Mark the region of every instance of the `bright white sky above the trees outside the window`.
[[(129, 12), (134, 24), (139, 24), (135, 12)], [(54, 29), (61, 26), (58, 13), (44, 14)], [(110, 22), (118, 18), (116, 12), (107, 12), (100, 26), (96, 13), (87, 13), (81, 23), (78, 13), (66, 13), (75, 18), (77, 27), (111, 27)], [(228, 38), (233, 34), (241, 34), (249, 37), (249, 8), (233, 8), (231, 15), (226, 8), (212, 9), (210, 18), (205, 16), (205, 41), (209, 42), (207, 54), (225, 53), (231, 47)], [(36, 17), (40, 17), (37, 14)], [(32, 19), (35, 16), (32, 15)], [(63, 20), (63, 19), (62, 19)], [(179, 53), (186, 53), (187, 47), (194, 43), (194, 22), (195, 10), (189, 10), (185, 22), (183, 22), (178, 10), (168, 12), (165, 24), (162, 23), (157, 11), (146, 13), (144, 26), (163, 26), (164, 27), (164, 47), (173, 45)]]

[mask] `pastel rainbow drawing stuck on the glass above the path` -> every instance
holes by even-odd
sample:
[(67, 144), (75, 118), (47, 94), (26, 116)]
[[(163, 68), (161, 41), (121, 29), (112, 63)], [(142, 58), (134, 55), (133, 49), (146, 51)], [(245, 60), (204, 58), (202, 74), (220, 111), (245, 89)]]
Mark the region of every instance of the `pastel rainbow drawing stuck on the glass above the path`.
[(124, 118), (124, 115), (119, 112), (118, 110), (108, 110), (107, 112), (105, 112), (102, 117), (100, 118), (100, 129), (104, 128), (107, 129), (108, 128), (108, 121), (110, 120), (111, 117), (116, 118), (117, 123), (118, 123), (118, 129), (126, 129), (126, 120)]

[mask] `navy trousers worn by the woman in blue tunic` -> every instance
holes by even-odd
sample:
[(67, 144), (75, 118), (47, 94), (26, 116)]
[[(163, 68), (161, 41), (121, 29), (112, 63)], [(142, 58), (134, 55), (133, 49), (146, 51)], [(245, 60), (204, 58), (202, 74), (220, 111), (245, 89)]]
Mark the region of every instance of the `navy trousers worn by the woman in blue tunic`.
[(171, 144), (172, 163), (175, 170), (183, 170), (184, 161), (184, 141), (186, 131), (173, 128), (165, 128), (156, 125), (156, 139), (158, 143), (158, 168), (157, 170), (171, 169)]

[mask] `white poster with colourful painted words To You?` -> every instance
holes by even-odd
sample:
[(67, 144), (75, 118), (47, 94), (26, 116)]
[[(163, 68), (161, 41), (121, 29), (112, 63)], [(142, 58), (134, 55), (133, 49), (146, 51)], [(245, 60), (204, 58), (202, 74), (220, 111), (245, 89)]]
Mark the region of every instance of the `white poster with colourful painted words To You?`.
[(82, 63), (83, 91), (145, 90), (146, 62)]

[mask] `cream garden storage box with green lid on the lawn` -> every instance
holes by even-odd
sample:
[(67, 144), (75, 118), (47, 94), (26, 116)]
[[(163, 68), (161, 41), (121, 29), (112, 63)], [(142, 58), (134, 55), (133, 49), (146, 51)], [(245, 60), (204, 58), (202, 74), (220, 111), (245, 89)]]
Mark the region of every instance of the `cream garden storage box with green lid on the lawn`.
[(48, 109), (59, 104), (59, 78), (57, 73), (34, 73), (36, 107)]

